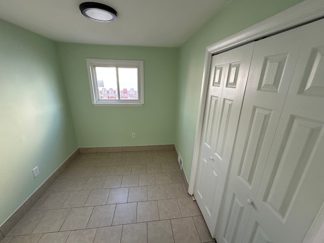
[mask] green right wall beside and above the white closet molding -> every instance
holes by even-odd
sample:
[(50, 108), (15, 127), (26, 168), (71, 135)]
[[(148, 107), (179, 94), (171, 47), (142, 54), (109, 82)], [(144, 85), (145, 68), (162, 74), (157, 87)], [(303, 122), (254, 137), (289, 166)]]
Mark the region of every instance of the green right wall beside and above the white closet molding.
[(175, 145), (183, 159), (187, 179), (190, 177), (206, 47), (299, 2), (301, 0), (232, 0), (180, 47)]

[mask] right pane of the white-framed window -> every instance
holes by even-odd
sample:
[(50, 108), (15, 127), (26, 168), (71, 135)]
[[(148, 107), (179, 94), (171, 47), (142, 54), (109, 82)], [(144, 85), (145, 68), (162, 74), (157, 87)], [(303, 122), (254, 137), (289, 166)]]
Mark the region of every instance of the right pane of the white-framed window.
[(138, 68), (118, 67), (121, 100), (138, 100)]

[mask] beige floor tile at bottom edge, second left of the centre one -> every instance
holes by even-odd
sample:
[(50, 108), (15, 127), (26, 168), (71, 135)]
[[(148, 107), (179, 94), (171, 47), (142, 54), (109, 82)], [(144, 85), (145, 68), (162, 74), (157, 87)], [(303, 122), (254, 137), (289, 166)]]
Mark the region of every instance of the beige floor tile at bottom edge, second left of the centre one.
[(94, 243), (119, 243), (122, 225), (98, 228)]

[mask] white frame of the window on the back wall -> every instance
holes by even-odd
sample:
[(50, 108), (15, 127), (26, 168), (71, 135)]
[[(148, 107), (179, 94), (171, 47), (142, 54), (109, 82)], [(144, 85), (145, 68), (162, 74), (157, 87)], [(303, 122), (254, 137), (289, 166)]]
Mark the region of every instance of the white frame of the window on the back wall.
[[(115, 59), (94, 59), (86, 58), (87, 69), (90, 84), (90, 93), (93, 105), (133, 105), (139, 106), (144, 104), (144, 61), (141, 60), (115, 60)], [(95, 73), (95, 67), (129, 67), (138, 68), (138, 100), (121, 100), (119, 94), (119, 82), (117, 79), (118, 100), (100, 100), (98, 97), (98, 84)]]

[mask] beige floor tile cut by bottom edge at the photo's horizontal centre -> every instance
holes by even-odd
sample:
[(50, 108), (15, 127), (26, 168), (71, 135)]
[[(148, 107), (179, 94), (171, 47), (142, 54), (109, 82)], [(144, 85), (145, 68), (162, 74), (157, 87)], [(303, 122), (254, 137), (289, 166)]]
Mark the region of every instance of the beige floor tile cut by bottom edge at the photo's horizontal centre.
[(174, 243), (170, 220), (147, 222), (148, 243)]

